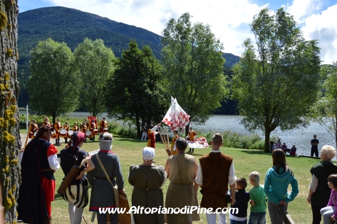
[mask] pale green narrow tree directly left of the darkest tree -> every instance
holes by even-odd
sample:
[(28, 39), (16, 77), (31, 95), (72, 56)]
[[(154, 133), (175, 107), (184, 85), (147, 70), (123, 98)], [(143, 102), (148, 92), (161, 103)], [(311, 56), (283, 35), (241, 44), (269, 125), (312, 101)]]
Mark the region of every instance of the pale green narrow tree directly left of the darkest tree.
[(96, 116), (106, 110), (104, 88), (114, 70), (114, 54), (102, 39), (92, 41), (85, 38), (75, 48), (74, 56), (81, 80), (81, 107)]

